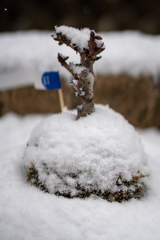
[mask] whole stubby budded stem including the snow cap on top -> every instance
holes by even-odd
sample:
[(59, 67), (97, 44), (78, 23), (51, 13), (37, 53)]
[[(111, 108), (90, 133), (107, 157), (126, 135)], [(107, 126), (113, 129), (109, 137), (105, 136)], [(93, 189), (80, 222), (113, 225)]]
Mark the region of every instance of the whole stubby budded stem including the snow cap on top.
[[(67, 26), (55, 27), (52, 35), (59, 45), (66, 44), (74, 51), (80, 54), (80, 63), (67, 63), (68, 56), (58, 53), (58, 61), (65, 67), (74, 77), (76, 81), (71, 81), (76, 96), (83, 100), (83, 105), (77, 108), (77, 119), (87, 116), (94, 112), (93, 85), (95, 75), (93, 64), (99, 60), (99, 55), (105, 50), (102, 37), (97, 35), (95, 31), (89, 29), (75, 29)], [(76, 84), (75, 84), (76, 83)]]

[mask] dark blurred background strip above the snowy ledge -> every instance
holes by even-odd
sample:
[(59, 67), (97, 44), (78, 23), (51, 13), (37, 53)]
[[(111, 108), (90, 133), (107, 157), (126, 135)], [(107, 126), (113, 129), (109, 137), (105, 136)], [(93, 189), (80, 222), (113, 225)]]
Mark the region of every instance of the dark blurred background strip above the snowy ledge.
[(0, 0), (0, 32), (55, 25), (160, 34), (160, 0)]

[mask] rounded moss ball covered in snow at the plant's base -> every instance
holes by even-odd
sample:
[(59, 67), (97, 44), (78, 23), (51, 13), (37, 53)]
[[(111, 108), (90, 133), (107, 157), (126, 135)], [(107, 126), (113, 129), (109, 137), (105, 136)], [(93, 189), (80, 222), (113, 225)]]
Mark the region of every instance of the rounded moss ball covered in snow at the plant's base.
[(73, 111), (52, 115), (32, 131), (24, 151), (28, 180), (56, 195), (139, 198), (148, 175), (139, 135), (108, 106), (76, 121)]

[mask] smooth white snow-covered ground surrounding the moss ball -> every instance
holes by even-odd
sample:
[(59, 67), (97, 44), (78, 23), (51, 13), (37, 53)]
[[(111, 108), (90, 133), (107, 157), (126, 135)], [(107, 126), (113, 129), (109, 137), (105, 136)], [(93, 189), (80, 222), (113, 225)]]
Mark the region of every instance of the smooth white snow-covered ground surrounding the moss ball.
[(151, 176), (141, 200), (109, 203), (66, 199), (26, 182), (22, 155), (33, 127), (46, 115), (0, 118), (0, 239), (160, 239), (160, 131), (138, 130)]

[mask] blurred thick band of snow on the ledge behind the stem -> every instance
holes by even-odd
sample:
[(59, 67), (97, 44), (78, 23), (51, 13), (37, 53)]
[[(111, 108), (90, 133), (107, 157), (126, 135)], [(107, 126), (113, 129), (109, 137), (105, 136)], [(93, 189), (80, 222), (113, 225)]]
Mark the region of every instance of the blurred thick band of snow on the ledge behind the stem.
[[(43, 72), (52, 70), (71, 79), (71, 75), (58, 62), (57, 54), (60, 52), (69, 56), (69, 61), (75, 63), (80, 61), (79, 54), (65, 45), (58, 46), (51, 38), (53, 32), (0, 33), (0, 89), (8, 88), (9, 85), (34, 84), (36, 77), (40, 78)], [(85, 29), (81, 34), (88, 36), (87, 32)], [(159, 35), (151, 36), (137, 31), (103, 32), (99, 35), (103, 37), (106, 49), (101, 54), (102, 58), (94, 64), (96, 74), (149, 74), (157, 80), (160, 74)], [(9, 73), (7, 83), (5, 74)]]

